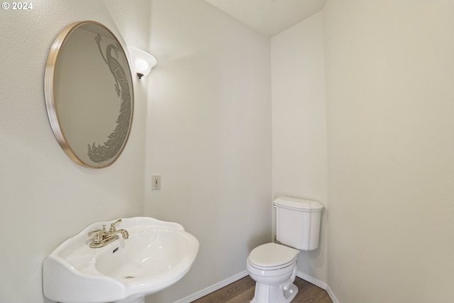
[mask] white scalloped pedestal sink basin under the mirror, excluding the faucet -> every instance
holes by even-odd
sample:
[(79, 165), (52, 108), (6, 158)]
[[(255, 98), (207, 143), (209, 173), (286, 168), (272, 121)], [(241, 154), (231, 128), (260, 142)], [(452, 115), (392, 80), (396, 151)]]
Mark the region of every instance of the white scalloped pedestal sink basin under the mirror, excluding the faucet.
[(46, 297), (62, 303), (128, 302), (177, 282), (199, 251), (199, 241), (180, 224), (145, 217), (122, 219), (117, 227), (128, 231), (126, 240), (120, 236), (90, 248), (89, 231), (111, 223), (87, 226), (44, 260)]

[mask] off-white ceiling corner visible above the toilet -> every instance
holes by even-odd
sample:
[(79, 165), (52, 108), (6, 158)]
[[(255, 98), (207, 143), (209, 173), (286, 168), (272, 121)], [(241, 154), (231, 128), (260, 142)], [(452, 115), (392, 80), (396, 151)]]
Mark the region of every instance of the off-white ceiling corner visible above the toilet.
[(205, 1), (271, 37), (321, 11), (326, 0)]

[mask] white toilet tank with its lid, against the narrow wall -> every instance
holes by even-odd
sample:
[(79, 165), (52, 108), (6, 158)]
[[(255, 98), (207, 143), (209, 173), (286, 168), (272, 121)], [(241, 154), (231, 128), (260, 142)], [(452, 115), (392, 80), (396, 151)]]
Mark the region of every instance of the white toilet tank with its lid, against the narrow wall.
[(275, 199), (277, 241), (299, 250), (319, 247), (320, 202), (279, 197)]

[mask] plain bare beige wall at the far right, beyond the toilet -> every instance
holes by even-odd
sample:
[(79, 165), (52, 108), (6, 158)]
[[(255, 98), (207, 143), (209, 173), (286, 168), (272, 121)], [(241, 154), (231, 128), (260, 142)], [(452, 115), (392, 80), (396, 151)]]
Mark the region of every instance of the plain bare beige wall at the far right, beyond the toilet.
[(324, 14), (328, 285), (338, 302), (450, 302), (453, 1)]

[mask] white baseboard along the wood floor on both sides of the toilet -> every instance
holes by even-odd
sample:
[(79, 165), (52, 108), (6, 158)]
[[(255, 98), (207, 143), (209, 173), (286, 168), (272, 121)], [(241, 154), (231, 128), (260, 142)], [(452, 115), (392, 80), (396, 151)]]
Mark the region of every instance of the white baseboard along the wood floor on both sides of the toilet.
[[(183, 299), (179, 299), (178, 301), (175, 301), (174, 303), (194, 302), (196, 299), (200, 299), (201, 297), (205, 297), (207, 294), (211, 294), (211, 292), (220, 290), (222, 287), (227, 286), (233, 282), (236, 282), (247, 275), (249, 275), (248, 270), (244, 270), (243, 272), (233, 275), (232, 277), (228, 277), (226, 280), (222, 280), (221, 282), (218, 282), (215, 285), (206, 287), (204, 290), (191, 294), (190, 296), (184, 297)], [(333, 303), (339, 303), (338, 299), (334, 295), (331, 288), (326, 284), (326, 282), (323, 282), (314, 277), (306, 275), (303, 272), (297, 272), (297, 277), (300, 277), (301, 279), (320, 287), (322, 290), (326, 290), (326, 292), (328, 293), (328, 296), (331, 298), (331, 301), (333, 301)]]

